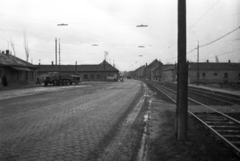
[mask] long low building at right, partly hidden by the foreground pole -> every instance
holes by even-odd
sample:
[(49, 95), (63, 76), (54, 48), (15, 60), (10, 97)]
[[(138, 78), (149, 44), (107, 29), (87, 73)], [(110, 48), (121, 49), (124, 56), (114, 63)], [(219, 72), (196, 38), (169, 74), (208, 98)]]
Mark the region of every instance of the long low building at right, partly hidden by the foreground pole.
[[(174, 65), (162, 71), (162, 81), (177, 81), (177, 72)], [(199, 79), (197, 77), (199, 73)], [(240, 82), (240, 63), (189, 63), (188, 83), (213, 84), (213, 83), (237, 83)]]

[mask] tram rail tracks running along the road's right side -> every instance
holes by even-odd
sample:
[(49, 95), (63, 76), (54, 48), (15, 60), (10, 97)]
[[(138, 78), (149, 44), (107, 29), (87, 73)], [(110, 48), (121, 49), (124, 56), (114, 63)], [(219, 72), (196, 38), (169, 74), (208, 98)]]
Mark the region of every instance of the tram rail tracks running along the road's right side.
[[(172, 84), (163, 85), (151, 81), (147, 81), (145, 83), (150, 84), (155, 89), (157, 89), (161, 93), (161, 95), (163, 95), (167, 99), (167, 101), (176, 103), (176, 86), (173, 86)], [(234, 96), (232, 98), (229, 94), (215, 94), (213, 92), (211, 94), (211, 92), (205, 90), (197, 90), (194, 88), (190, 88), (188, 92), (191, 96), (194, 93), (198, 95), (198, 97), (208, 97), (214, 100), (214, 104), (216, 101), (218, 101), (221, 105), (239, 105), (239, 100), (237, 96)], [(194, 118), (196, 118), (198, 121), (200, 121), (220, 140), (222, 140), (229, 147), (231, 147), (237, 153), (237, 155), (240, 156), (240, 121), (214, 109), (214, 107), (210, 107), (209, 105), (200, 102), (201, 99), (200, 101), (198, 101), (188, 97), (188, 100), (189, 106), (200, 105), (201, 108), (204, 107), (208, 109), (207, 112), (193, 112), (188, 110), (188, 113)]]

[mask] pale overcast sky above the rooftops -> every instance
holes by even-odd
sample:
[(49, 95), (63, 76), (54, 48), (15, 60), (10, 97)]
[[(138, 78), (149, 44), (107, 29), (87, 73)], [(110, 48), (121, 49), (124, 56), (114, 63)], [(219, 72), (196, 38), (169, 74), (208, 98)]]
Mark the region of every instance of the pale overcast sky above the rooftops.
[[(177, 0), (0, 0), (0, 6), (0, 50), (13, 51), (12, 42), (16, 56), (26, 60), (25, 33), (34, 64), (55, 62), (55, 38), (61, 64), (99, 64), (104, 51), (120, 71), (154, 59), (177, 62)], [(136, 27), (141, 24), (148, 27)], [(239, 26), (240, 0), (187, 0), (187, 51)], [(215, 62), (216, 56), (240, 62), (240, 29), (199, 53), (201, 62)], [(188, 60), (197, 60), (197, 50)]]

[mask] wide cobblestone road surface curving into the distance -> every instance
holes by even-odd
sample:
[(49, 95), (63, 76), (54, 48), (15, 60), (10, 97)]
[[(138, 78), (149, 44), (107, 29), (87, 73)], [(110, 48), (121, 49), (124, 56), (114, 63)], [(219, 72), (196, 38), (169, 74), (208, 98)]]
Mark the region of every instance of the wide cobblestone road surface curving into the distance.
[(140, 89), (131, 80), (0, 100), (0, 160), (94, 160)]

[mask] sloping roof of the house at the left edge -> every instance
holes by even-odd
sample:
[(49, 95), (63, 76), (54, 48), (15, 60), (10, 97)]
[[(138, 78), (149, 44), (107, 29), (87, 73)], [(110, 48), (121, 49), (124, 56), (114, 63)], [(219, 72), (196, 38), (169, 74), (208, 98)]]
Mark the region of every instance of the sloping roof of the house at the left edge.
[(24, 61), (18, 57), (10, 54), (0, 53), (0, 65), (1, 66), (15, 66), (15, 67), (30, 67), (35, 68), (33, 64)]

